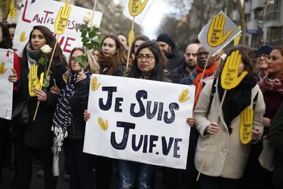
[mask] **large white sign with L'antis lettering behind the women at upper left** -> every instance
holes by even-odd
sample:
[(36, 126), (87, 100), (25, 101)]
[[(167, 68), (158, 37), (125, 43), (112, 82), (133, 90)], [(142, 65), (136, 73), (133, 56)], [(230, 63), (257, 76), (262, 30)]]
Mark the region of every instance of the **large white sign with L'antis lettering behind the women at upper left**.
[[(54, 31), (54, 23), (59, 12), (59, 9), (64, 6), (64, 3), (50, 0), (24, 0), (23, 7), (18, 16), (18, 24), (14, 36), (14, 48), (18, 49), (17, 53), (21, 55), (23, 47), (29, 40), (29, 34), (35, 25), (44, 25), (48, 27), (56, 36)], [(70, 52), (74, 47), (82, 47), (81, 32), (77, 31), (77, 25), (83, 23), (83, 16), (92, 10), (80, 8), (71, 5), (72, 11), (68, 18), (68, 24), (64, 34), (59, 36), (59, 45), (61, 46), (66, 58), (69, 57)], [(94, 12), (93, 23), (100, 26), (102, 12)]]

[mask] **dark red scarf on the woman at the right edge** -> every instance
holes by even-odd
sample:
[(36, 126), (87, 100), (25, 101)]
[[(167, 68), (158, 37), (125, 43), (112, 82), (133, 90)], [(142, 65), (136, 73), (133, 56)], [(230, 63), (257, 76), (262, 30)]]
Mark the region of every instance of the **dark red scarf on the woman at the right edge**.
[(258, 85), (263, 94), (276, 94), (283, 97), (283, 74), (278, 78), (269, 74), (262, 81), (259, 81)]

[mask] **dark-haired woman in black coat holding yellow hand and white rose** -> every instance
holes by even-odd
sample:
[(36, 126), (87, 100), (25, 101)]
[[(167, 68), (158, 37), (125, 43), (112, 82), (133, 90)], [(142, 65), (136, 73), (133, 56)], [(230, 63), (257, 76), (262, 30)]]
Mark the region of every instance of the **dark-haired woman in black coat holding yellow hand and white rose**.
[[(27, 102), (29, 106), (29, 123), (26, 127), (21, 127), (21, 132), (16, 138), (15, 148), (18, 155), (19, 188), (29, 188), (31, 184), (32, 164), (31, 159), (37, 151), (44, 164), (44, 188), (55, 188), (57, 177), (53, 177), (53, 132), (51, 131), (52, 119), (56, 108), (57, 96), (51, 92), (51, 86), (59, 89), (66, 86), (64, 73), (66, 73), (66, 60), (59, 45), (55, 49), (54, 58), (51, 63), (51, 74), (49, 82), (44, 83), (42, 89), (43, 75), (45, 75), (46, 65), (50, 64), (51, 50), (49, 53), (42, 49), (44, 45), (55, 47), (55, 38), (52, 32), (42, 25), (34, 26), (29, 34), (29, 41), (23, 49), (21, 67), (21, 101)], [(45, 46), (46, 47), (46, 46)], [(40, 60), (44, 56), (44, 60)], [(42, 64), (42, 63), (45, 63)], [(33, 84), (36, 86), (31, 90)], [(36, 111), (36, 106), (40, 101), (36, 119), (32, 121)]]

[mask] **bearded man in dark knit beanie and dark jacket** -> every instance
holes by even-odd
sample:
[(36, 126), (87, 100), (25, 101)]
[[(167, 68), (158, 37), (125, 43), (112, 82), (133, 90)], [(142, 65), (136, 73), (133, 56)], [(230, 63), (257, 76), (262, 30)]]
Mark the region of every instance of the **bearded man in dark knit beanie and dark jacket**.
[(184, 61), (183, 55), (178, 53), (178, 49), (170, 36), (167, 34), (160, 34), (157, 38), (157, 45), (169, 60), (167, 70), (172, 71), (177, 68)]

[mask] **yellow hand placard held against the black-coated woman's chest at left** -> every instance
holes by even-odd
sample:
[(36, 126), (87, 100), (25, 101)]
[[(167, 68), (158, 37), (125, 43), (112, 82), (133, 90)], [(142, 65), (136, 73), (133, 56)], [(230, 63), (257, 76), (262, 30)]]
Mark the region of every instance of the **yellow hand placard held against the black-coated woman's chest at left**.
[(40, 74), (40, 79), (38, 79), (38, 65), (32, 64), (29, 70), (29, 96), (36, 97), (36, 92), (34, 89), (42, 89), (44, 79), (44, 73)]

